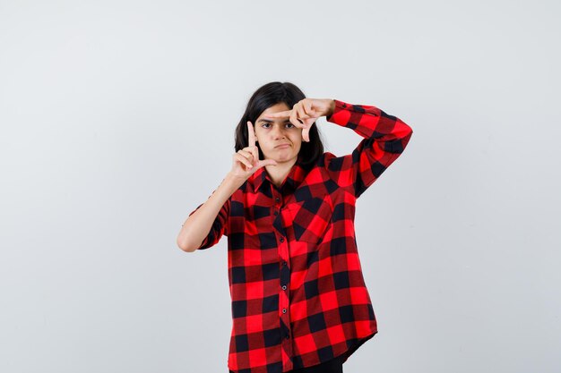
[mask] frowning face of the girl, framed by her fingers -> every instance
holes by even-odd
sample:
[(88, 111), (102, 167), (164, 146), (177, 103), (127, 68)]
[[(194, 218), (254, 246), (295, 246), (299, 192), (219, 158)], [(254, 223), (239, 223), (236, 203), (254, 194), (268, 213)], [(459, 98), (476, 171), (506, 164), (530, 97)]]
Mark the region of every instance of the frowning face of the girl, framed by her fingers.
[(290, 110), (285, 103), (267, 108), (254, 123), (255, 140), (265, 159), (274, 159), (277, 163), (296, 162), (302, 145), (302, 129), (290, 123), (289, 118), (265, 119), (266, 114)]

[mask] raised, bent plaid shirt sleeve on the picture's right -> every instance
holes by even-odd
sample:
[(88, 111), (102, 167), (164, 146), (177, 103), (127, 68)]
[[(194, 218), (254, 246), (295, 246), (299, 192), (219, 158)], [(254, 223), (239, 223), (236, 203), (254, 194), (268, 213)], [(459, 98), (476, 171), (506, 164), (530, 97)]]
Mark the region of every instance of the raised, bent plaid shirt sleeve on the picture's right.
[(325, 165), (333, 180), (341, 187), (352, 187), (358, 198), (400, 157), (413, 131), (399, 118), (375, 106), (334, 101), (335, 109), (326, 120), (350, 128), (364, 139), (352, 154), (335, 157), (327, 153)]

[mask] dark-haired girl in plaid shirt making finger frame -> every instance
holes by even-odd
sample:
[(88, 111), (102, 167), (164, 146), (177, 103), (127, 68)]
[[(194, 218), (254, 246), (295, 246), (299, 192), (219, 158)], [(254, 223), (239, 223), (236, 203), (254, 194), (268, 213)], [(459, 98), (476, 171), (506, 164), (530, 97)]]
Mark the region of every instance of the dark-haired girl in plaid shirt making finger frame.
[[(362, 137), (351, 154), (324, 152), (321, 116)], [(231, 170), (177, 236), (189, 252), (228, 236), (230, 373), (341, 373), (377, 333), (355, 204), (411, 134), (375, 106), (306, 98), (289, 82), (255, 91)]]

